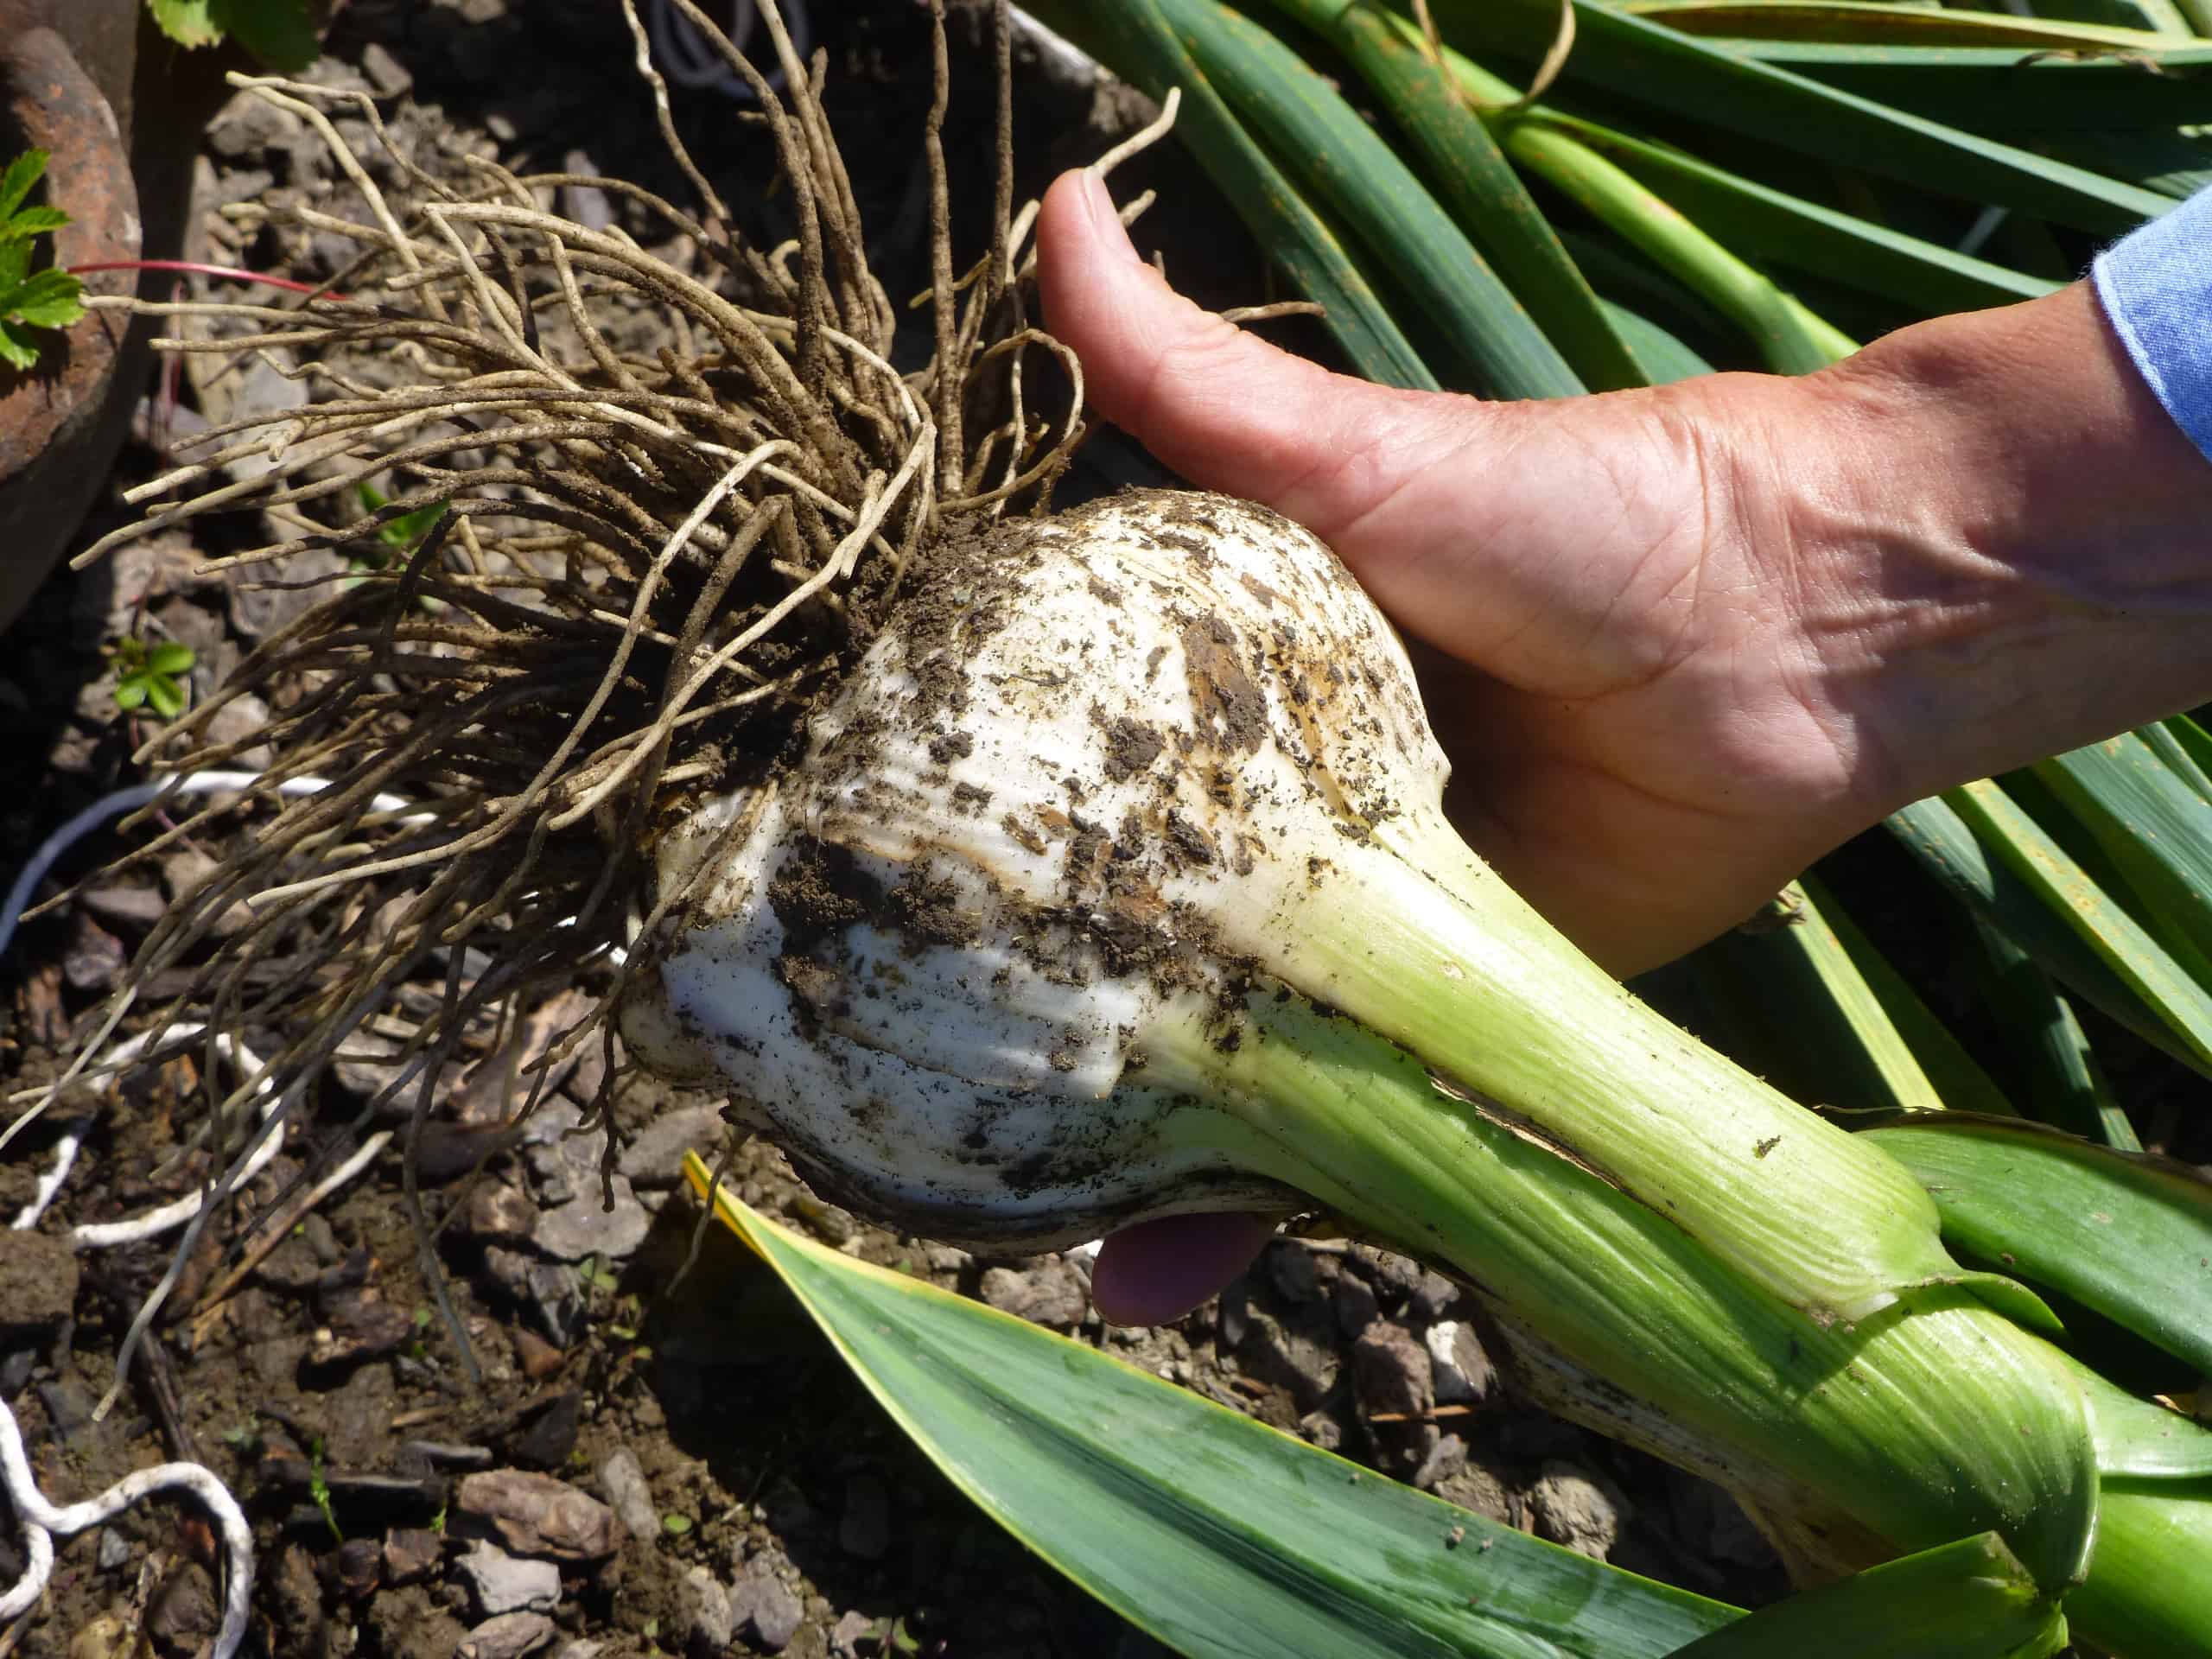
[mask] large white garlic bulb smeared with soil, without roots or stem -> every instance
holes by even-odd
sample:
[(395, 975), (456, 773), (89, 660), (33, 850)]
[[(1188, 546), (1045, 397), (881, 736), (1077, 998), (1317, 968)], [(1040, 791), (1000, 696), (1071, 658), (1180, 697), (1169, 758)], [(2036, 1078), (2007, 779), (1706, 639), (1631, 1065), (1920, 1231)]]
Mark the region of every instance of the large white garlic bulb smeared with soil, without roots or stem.
[[(1188, 1055), (1234, 1044), (1270, 931), (1444, 757), (1334, 553), (1250, 502), (1130, 491), (933, 555), (737, 818), (626, 1009), (825, 1190), (1035, 1243), (1290, 1203), (1219, 1150)], [(1234, 1137), (1232, 1137), (1234, 1139)]]

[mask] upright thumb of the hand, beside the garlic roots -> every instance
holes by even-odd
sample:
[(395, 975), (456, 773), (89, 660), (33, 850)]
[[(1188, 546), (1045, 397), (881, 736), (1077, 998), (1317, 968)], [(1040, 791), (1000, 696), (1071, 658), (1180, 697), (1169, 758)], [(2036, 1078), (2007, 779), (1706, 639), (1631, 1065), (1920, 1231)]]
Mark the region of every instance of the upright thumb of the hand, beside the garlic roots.
[(1425, 473), (1484, 422), (1471, 398), (1329, 374), (1192, 305), (1137, 257), (1091, 173), (1046, 192), (1037, 248), (1046, 325), (1099, 414), (1194, 484), (1327, 542), (1409, 491), (1447, 491)]

